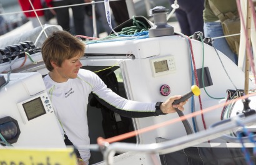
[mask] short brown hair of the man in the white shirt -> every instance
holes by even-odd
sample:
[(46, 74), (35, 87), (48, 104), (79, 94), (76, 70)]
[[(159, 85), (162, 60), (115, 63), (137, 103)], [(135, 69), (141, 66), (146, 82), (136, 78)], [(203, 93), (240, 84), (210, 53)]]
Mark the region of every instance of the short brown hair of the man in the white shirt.
[(66, 59), (84, 55), (85, 44), (67, 31), (55, 31), (42, 44), (42, 59), (49, 71), (53, 70), (51, 60), (61, 67)]

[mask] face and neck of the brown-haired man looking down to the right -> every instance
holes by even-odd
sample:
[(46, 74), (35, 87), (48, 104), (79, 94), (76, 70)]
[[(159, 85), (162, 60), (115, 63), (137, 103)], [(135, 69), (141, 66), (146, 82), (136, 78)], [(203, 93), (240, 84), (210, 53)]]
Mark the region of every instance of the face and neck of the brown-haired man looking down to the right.
[(79, 68), (82, 67), (80, 62), (81, 55), (66, 59), (62, 62), (61, 67), (54, 68), (54, 77), (56, 82), (66, 82), (69, 78), (76, 78)]

